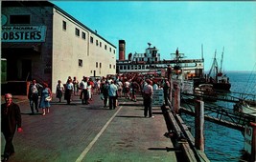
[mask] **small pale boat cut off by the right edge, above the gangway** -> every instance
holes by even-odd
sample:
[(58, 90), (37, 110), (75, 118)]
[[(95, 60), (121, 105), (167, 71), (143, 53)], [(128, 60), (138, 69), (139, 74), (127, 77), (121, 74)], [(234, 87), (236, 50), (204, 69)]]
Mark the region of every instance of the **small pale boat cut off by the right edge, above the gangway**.
[(234, 111), (256, 116), (256, 101), (241, 99), (234, 105)]

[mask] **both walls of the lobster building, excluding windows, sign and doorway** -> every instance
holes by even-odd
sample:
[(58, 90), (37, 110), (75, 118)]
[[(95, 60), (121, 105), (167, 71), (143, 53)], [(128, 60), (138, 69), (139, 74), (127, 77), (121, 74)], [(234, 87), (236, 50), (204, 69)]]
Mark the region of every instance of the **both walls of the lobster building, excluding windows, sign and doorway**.
[[(81, 81), (82, 76), (115, 74), (116, 47), (96, 31), (88, 29), (64, 10), (47, 2), (35, 3), (35, 6), (27, 2), (14, 3), (12, 6), (12, 2), (8, 2), (8, 7), (3, 7), (2, 13), (7, 17), (11, 14), (30, 14), (30, 26), (46, 27), (43, 42), (4, 42), (2, 44), (5, 47), (2, 56), (7, 58), (8, 62), (11, 60), (10, 69), (16, 67), (17, 75), (21, 73), (21, 62), (30, 60), (31, 79), (47, 82), (55, 92), (58, 80), (65, 83), (68, 76), (72, 78), (77, 76)], [(63, 30), (63, 21), (66, 22), (66, 30)], [(9, 22), (5, 26), (10, 26)], [(76, 35), (76, 29), (80, 30), (79, 36)], [(82, 38), (82, 32), (85, 33), (85, 39)], [(18, 49), (15, 46), (18, 46)], [(29, 46), (35, 46), (36, 50), (32, 50), (33, 48)], [(15, 76), (14, 79), (22, 78)]]

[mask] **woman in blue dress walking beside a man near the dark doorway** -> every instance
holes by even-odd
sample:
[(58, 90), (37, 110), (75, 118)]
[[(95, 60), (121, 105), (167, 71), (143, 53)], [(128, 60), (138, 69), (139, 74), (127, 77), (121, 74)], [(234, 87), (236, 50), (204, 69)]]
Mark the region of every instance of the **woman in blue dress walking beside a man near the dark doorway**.
[(47, 97), (53, 97), (52, 96), (52, 91), (48, 88), (47, 83), (43, 83), (43, 90), (41, 91), (41, 100), (40, 100), (40, 105), (39, 108), (42, 109), (43, 113), (42, 115), (44, 116), (45, 113), (50, 112), (50, 100), (47, 99)]

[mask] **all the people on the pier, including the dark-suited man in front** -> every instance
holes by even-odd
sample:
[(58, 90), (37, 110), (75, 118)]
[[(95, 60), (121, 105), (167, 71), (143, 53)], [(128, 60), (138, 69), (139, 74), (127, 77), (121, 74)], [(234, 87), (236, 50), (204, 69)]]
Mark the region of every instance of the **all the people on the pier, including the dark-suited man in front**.
[[(103, 100), (104, 107), (109, 107), (109, 110), (114, 110), (118, 107), (118, 98), (124, 97), (127, 100), (136, 102), (137, 94), (143, 96), (144, 116), (152, 116), (151, 103), (153, 91), (163, 89), (165, 104), (170, 91), (170, 83), (165, 79), (148, 78), (145, 75), (138, 73), (129, 73), (123, 75), (107, 75), (102, 78), (92, 80), (90, 77), (83, 76), (81, 82), (77, 77), (68, 76), (65, 84), (58, 80), (56, 85), (56, 95), (58, 102), (62, 102), (62, 97), (69, 105), (74, 96), (80, 96), (81, 104), (88, 105), (93, 100), (93, 92), (98, 94)], [(48, 87), (48, 84), (43, 82), (39, 84), (34, 79), (29, 87), (28, 99), (32, 113), (42, 110), (42, 115), (50, 112), (50, 103), (53, 99), (53, 92)], [(13, 154), (14, 148), (12, 139), (14, 132), (22, 132), (21, 114), (19, 106), (12, 102), (12, 94), (5, 94), (5, 104), (1, 105), (1, 131), (6, 140), (4, 150), (4, 159), (7, 161)]]

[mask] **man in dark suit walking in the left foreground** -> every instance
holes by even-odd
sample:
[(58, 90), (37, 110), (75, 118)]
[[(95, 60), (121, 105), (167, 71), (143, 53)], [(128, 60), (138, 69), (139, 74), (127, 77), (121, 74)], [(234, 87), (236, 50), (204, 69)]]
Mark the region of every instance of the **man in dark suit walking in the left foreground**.
[(12, 94), (5, 94), (5, 104), (1, 105), (1, 131), (6, 139), (4, 151), (4, 159), (8, 161), (9, 157), (14, 153), (12, 139), (17, 128), (17, 132), (22, 132), (21, 114), (19, 106), (12, 102)]

